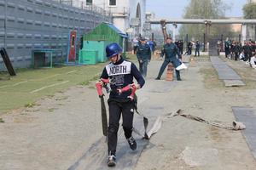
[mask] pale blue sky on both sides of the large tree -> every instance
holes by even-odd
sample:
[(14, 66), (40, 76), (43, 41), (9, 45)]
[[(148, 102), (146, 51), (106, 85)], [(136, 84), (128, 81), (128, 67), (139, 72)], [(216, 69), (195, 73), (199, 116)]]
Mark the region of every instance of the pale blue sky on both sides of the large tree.
[[(190, 0), (146, 0), (146, 10), (154, 12), (157, 19), (180, 19), (189, 2)], [(241, 17), (242, 7), (247, 0), (223, 0), (223, 2), (231, 6), (230, 10), (226, 11), (227, 17)]]

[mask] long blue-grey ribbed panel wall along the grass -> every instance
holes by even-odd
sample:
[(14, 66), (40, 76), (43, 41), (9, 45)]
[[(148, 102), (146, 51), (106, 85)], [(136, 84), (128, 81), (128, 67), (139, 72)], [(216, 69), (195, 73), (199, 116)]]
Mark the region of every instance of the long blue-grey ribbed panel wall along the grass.
[[(79, 38), (111, 20), (92, 8), (52, 0), (0, 0), (0, 11), (0, 48), (6, 48), (15, 68), (31, 64), (33, 49), (61, 49), (66, 56), (69, 31), (77, 30)], [(0, 70), (5, 70), (1, 58)]]

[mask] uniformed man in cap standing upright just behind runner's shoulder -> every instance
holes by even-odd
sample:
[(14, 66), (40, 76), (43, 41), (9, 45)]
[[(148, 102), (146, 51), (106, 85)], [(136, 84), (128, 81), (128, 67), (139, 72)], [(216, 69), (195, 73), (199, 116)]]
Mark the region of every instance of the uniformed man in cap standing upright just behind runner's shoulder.
[(148, 62), (151, 59), (151, 49), (146, 43), (146, 39), (142, 38), (140, 44), (137, 47), (137, 60), (139, 62), (139, 69), (143, 77), (147, 77)]

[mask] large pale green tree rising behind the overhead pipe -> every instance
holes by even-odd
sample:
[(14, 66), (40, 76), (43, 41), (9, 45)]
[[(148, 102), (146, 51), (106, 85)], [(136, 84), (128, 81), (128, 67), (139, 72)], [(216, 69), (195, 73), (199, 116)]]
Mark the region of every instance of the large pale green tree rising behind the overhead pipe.
[[(185, 19), (223, 19), (225, 11), (230, 6), (223, 0), (190, 0), (189, 5), (185, 8), (183, 18)], [(205, 25), (183, 25), (179, 33), (180, 37), (189, 35), (189, 39), (203, 40)], [(220, 34), (230, 35), (231, 28), (228, 25), (212, 25), (210, 35), (220, 37)]]

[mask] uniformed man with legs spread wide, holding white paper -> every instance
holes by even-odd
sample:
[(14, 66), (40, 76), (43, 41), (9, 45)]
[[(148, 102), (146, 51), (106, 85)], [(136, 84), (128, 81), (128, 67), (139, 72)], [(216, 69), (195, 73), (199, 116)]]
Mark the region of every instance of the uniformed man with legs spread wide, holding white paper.
[[(172, 65), (174, 65), (175, 68), (177, 68), (177, 66), (182, 64), (181, 63), (182, 55), (179, 53), (177, 45), (172, 42), (172, 37), (166, 38), (166, 44), (162, 48), (161, 57), (163, 57), (164, 55), (166, 55), (166, 58), (165, 58), (164, 63), (160, 67), (159, 74), (155, 78), (156, 80), (160, 80), (160, 77), (162, 76), (163, 72), (165, 71), (166, 66), (170, 62), (172, 62)], [(178, 59), (177, 59), (177, 56), (178, 56)], [(176, 71), (177, 81), (181, 81), (179, 71), (177, 71), (177, 70), (175, 70), (175, 71)]]

